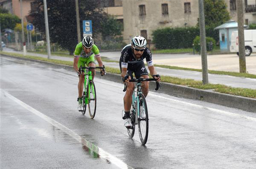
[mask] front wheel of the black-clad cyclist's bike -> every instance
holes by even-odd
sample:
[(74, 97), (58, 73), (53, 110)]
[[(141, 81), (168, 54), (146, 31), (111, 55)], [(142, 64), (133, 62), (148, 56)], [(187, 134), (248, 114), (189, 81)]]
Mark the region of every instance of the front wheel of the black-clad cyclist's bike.
[(145, 96), (140, 94), (139, 115), (138, 115), (138, 129), (140, 135), (140, 141), (145, 145), (148, 141), (148, 107)]

